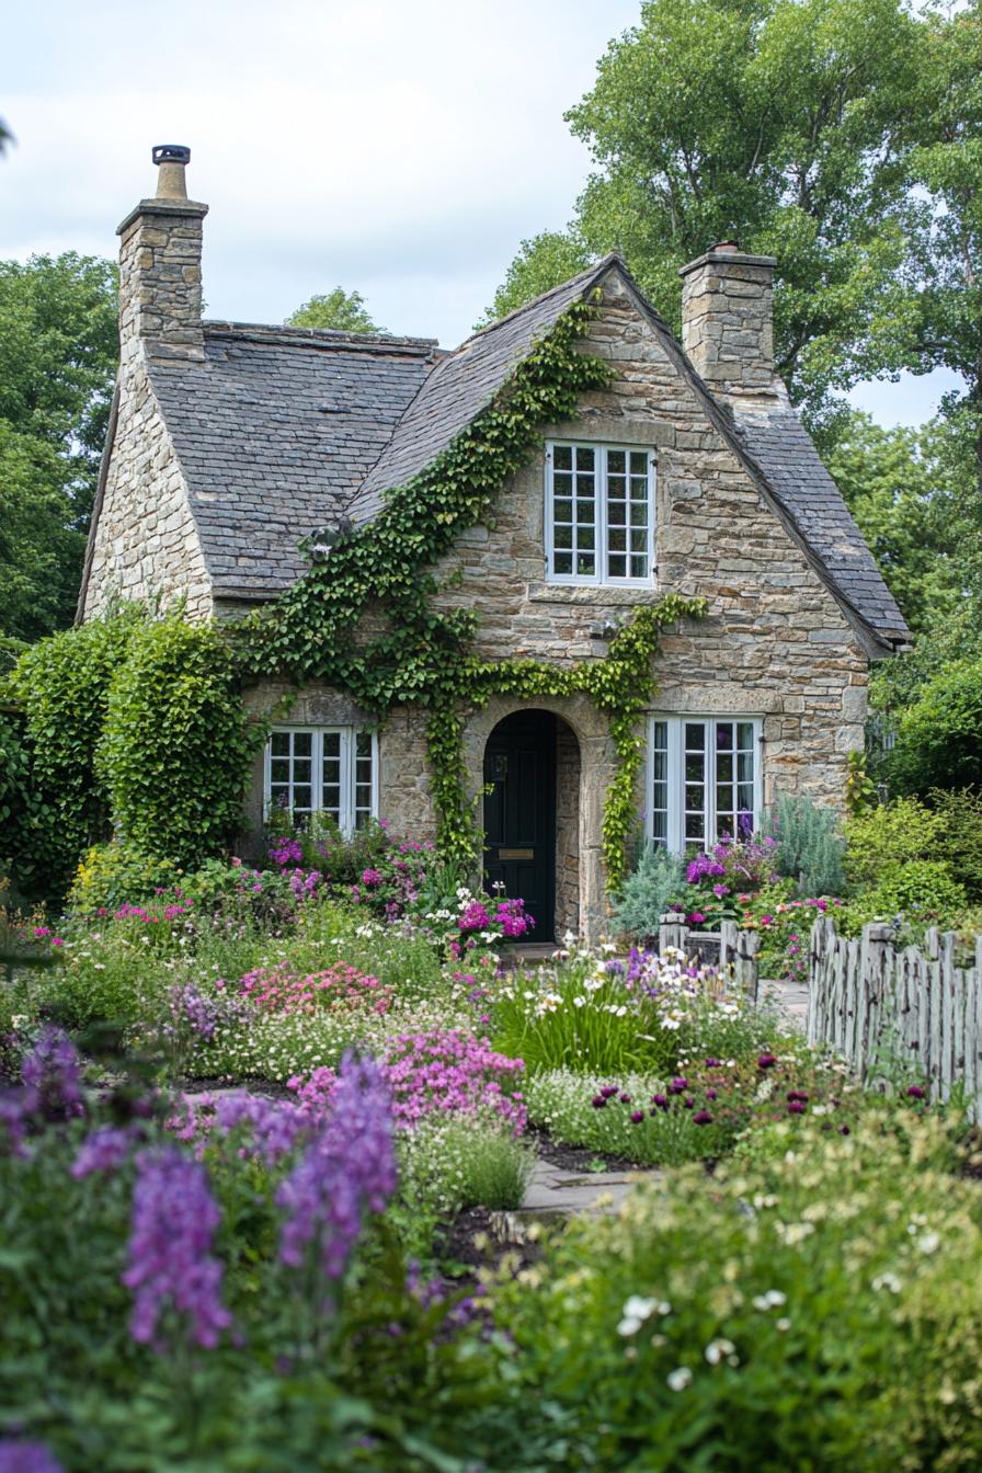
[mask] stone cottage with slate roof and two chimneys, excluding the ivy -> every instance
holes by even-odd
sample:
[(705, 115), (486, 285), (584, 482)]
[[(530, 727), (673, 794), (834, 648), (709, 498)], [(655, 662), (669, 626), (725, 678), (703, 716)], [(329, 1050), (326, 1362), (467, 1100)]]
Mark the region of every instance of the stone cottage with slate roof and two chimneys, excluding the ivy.
[[(679, 343), (615, 256), (474, 334), (434, 340), (202, 321), (202, 225), (188, 150), (155, 149), (158, 193), (119, 225), (119, 382), (80, 597), (181, 597), (236, 617), (305, 570), (299, 544), (359, 526), (487, 404), (573, 302), (599, 289), (583, 351), (614, 367), (573, 421), (543, 424), (501, 488), (493, 527), (458, 538), (437, 605), (478, 613), (486, 657), (601, 657), (618, 622), (667, 591), (704, 595), (655, 660), (639, 818), (683, 851), (780, 790), (841, 801), (861, 747), (872, 660), (908, 639), (863, 538), (773, 371), (774, 261), (717, 245), (682, 271)], [(452, 576), (453, 574), (453, 576)], [(283, 694), (253, 692), (269, 710)], [(548, 940), (596, 935), (599, 841), (614, 773), (586, 697), (495, 698), (465, 725), (484, 798), (486, 869)], [(372, 815), (433, 832), (421, 714), (377, 731), (340, 691), (299, 692), (256, 763), (247, 806)]]

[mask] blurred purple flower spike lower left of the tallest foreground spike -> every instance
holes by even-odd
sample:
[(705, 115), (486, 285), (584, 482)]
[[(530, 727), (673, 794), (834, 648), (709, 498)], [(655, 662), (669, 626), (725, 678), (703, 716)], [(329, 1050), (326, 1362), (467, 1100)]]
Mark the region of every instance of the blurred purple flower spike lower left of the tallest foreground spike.
[[(122, 1282), (134, 1290), (130, 1333), (155, 1343), (168, 1309), (188, 1321), (197, 1345), (212, 1349), (231, 1315), (221, 1302), (222, 1265), (212, 1256), (221, 1212), (208, 1173), (177, 1146), (144, 1150), (137, 1158), (128, 1267)], [(160, 1342), (155, 1349), (162, 1351)]]

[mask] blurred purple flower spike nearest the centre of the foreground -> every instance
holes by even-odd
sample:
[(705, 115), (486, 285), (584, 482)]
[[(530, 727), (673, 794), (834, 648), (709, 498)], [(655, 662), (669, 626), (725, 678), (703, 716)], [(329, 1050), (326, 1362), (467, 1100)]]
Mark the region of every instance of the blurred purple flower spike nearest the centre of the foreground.
[(365, 1209), (381, 1212), (396, 1190), (392, 1097), (374, 1059), (346, 1053), (331, 1117), (280, 1183), (280, 1261), (302, 1267), (314, 1246), (328, 1280), (340, 1279)]

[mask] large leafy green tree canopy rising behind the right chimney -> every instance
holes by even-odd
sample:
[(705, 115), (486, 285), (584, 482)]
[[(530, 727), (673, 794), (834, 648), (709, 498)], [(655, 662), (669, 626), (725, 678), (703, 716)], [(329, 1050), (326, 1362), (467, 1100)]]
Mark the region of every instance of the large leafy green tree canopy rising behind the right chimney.
[(777, 371), (813, 424), (861, 379), (964, 373), (979, 3), (648, 0), (567, 113), (596, 164), (573, 221), (523, 242), (490, 315), (617, 249), (677, 330), (679, 268), (736, 236), (777, 258)]

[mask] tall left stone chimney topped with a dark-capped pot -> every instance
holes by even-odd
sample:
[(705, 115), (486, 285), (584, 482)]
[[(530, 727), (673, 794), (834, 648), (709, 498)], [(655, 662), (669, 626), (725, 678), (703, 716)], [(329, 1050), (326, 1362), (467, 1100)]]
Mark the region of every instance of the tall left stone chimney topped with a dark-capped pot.
[(124, 365), (152, 358), (202, 359), (202, 221), (208, 205), (187, 197), (191, 150), (153, 150), (158, 191), (141, 199), (116, 230), (119, 239), (119, 346)]

